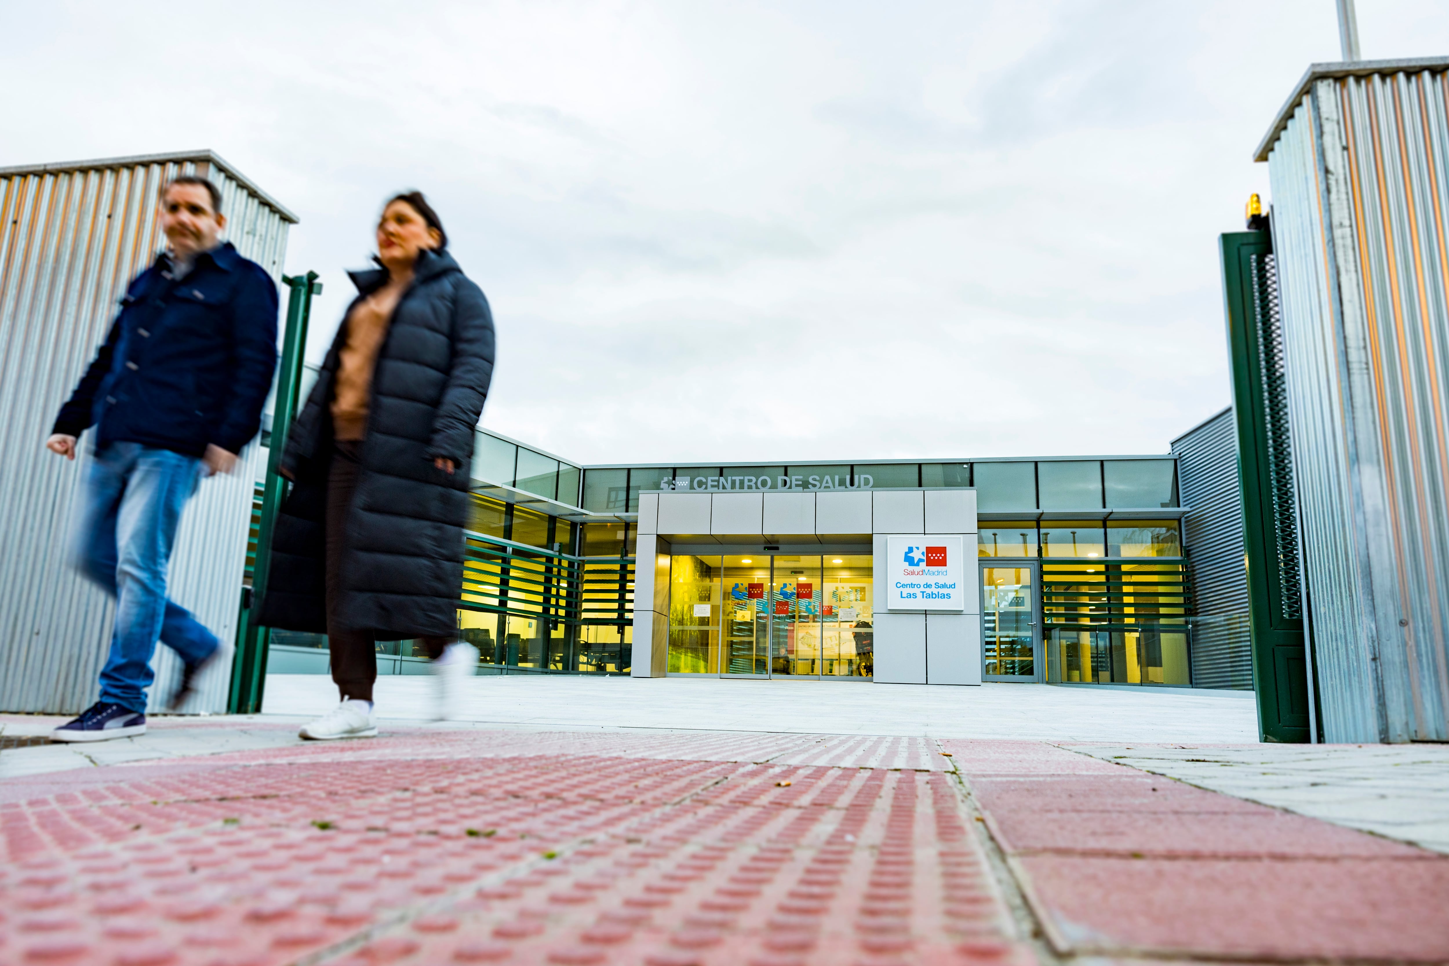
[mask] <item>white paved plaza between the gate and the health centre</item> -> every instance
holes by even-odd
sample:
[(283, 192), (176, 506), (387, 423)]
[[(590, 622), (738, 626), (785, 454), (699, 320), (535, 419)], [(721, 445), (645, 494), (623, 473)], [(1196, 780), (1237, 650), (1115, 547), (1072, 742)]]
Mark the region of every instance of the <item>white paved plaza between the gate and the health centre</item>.
[[(378, 717), (427, 720), (435, 684), (425, 675), (378, 678)], [(1258, 740), (1252, 694), (1232, 691), (572, 675), (478, 676), (468, 679), (467, 688), (462, 718), (488, 727), (1213, 744)], [(322, 714), (336, 700), (325, 675), (268, 675), (264, 713)]]

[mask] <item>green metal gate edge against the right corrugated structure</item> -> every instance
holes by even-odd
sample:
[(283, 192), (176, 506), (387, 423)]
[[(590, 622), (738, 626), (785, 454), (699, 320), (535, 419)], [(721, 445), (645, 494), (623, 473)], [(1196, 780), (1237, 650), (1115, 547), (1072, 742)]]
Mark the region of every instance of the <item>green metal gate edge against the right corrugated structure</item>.
[(1269, 303), (1277, 300), (1271, 291), (1272, 236), (1266, 230), (1232, 232), (1222, 236), (1220, 245), (1258, 731), (1264, 742), (1308, 742), (1308, 662), (1297, 591), (1297, 536), (1291, 487), (1282, 482), (1284, 474), (1291, 472), (1285, 465), (1290, 439), (1282, 413), (1271, 411), (1274, 390), (1268, 372), (1275, 362), (1274, 346), (1266, 340), (1277, 339), (1266, 319)]

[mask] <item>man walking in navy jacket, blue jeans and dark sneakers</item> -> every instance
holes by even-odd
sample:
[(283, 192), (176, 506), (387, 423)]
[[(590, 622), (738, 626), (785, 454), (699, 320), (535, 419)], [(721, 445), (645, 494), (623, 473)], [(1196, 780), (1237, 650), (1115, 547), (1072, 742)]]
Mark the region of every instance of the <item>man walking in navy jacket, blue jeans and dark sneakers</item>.
[(75, 437), (96, 427), (75, 559), (116, 597), (100, 701), (55, 728), (58, 742), (146, 730), (156, 639), (183, 662), (172, 708), (220, 652), (212, 631), (167, 600), (167, 569), (185, 501), (203, 475), (236, 466), (277, 365), (277, 287), (261, 265), (219, 243), (223, 227), (222, 193), (206, 178), (162, 188), (168, 248), (130, 282), (45, 443), (75, 459)]

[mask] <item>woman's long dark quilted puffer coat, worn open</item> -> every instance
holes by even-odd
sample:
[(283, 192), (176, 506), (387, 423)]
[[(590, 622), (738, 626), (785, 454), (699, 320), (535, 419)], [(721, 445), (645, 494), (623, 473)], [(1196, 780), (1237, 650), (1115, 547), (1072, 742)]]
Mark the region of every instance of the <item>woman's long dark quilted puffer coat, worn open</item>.
[[(483, 291), (446, 252), (422, 252), (413, 272), (372, 372), (339, 575), (346, 624), (377, 640), (456, 633), (474, 427), (493, 377), (493, 314)], [(387, 281), (387, 272), (354, 272), (352, 281), (361, 300)], [(258, 624), (327, 630), (332, 390), (345, 345), (346, 324), (283, 450), (281, 466), (296, 482), (272, 532)], [(456, 469), (438, 469), (436, 456), (454, 461)]]

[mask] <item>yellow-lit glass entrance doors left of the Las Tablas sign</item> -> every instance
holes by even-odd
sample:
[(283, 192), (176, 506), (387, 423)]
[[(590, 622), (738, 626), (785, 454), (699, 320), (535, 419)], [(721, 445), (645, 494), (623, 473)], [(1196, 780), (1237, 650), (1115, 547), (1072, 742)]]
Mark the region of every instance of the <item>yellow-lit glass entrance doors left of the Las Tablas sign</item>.
[(669, 673), (869, 678), (869, 555), (677, 555)]

